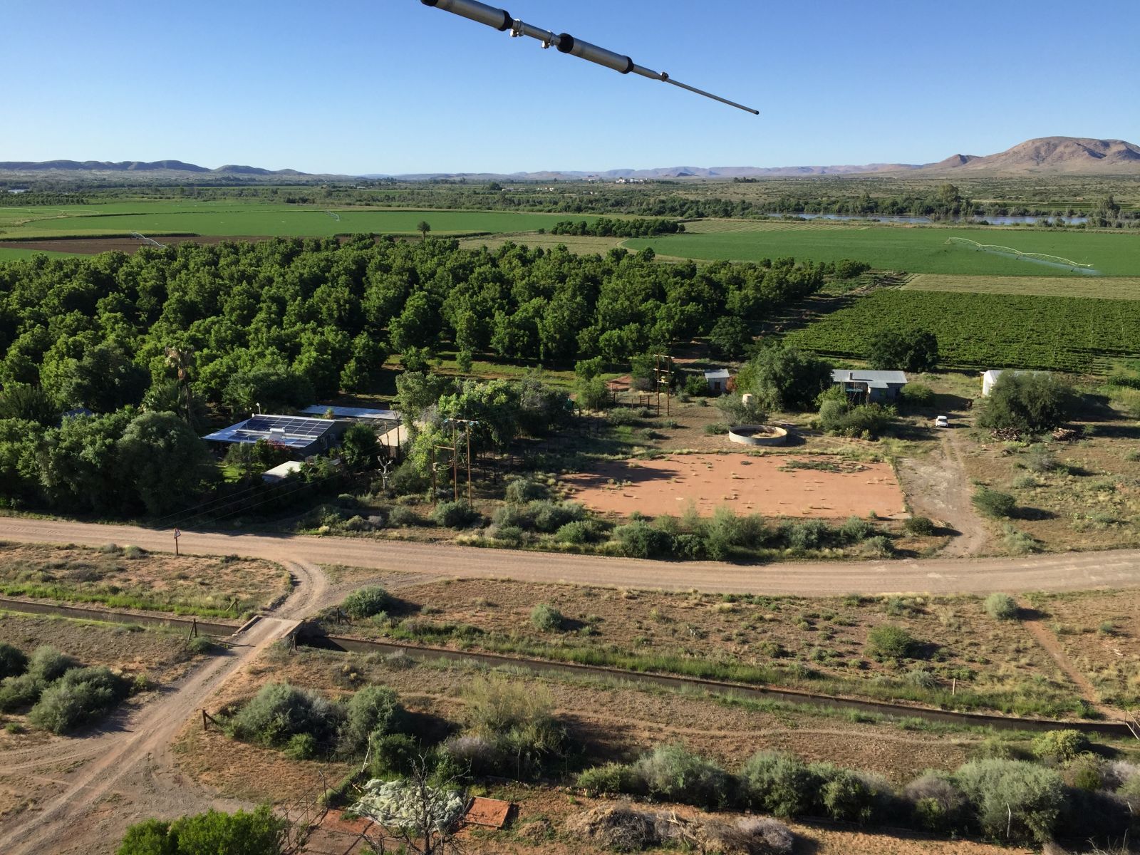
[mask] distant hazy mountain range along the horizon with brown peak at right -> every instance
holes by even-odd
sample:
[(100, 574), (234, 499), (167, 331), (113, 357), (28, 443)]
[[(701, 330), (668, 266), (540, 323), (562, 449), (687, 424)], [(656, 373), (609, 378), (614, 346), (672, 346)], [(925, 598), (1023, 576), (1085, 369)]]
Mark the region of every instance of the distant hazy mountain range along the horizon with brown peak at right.
[(1138, 174), (1140, 146), (1121, 139), (1090, 139), (1084, 137), (1042, 137), (1031, 139), (999, 154), (978, 156), (955, 154), (937, 163), (870, 163), (847, 166), (670, 166), (663, 169), (611, 169), (604, 172), (544, 171), (544, 172), (424, 172), (389, 176), (324, 176), (298, 172), (292, 169), (268, 170), (258, 166), (219, 166), (207, 169), (182, 161), (0, 161), (0, 178), (57, 179), (133, 179), (156, 180), (254, 180), (292, 179), (306, 182), (319, 180), (351, 180), (352, 178), (397, 178), (405, 181), (438, 178), (472, 181), (554, 181), (598, 179), (653, 180), (661, 178), (795, 178), (797, 176), (850, 174)]

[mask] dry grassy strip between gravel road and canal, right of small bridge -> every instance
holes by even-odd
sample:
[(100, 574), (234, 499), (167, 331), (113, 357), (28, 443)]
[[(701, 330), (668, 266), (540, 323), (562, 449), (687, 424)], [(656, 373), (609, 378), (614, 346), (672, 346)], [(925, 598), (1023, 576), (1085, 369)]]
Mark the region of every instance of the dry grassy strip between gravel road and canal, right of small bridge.
[[(560, 632), (531, 624), (539, 603), (564, 616)], [(869, 649), (869, 634), (887, 625), (917, 641), (906, 657), (877, 659)], [(948, 708), (1082, 710), (1078, 690), (1025, 627), (992, 619), (980, 597), (717, 596), (471, 579), (409, 586), (380, 620), (328, 632)]]

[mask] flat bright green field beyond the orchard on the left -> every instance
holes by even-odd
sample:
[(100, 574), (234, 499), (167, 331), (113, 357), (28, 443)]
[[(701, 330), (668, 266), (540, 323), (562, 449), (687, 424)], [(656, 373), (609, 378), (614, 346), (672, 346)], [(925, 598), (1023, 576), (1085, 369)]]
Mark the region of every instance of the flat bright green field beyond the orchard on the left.
[[(234, 202), (133, 202), (71, 207), (0, 209), (0, 241), (13, 238), (194, 234), (296, 236), (378, 233), (415, 234), (425, 220), (431, 234), (530, 231), (549, 228), (564, 214), (504, 211), (324, 210), (312, 206)], [(576, 219), (593, 221), (596, 217)]]

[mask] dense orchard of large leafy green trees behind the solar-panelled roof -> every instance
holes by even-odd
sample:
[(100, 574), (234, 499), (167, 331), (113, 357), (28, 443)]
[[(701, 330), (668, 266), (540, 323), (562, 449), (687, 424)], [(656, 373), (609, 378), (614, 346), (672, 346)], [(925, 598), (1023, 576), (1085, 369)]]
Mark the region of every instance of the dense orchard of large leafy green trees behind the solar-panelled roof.
[(210, 404), (298, 406), (369, 388), (390, 351), (445, 341), (505, 358), (626, 359), (724, 315), (762, 318), (815, 291), (823, 270), (372, 238), (38, 256), (0, 266), (0, 383), (106, 412), (177, 392), (177, 348), (194, 353)]

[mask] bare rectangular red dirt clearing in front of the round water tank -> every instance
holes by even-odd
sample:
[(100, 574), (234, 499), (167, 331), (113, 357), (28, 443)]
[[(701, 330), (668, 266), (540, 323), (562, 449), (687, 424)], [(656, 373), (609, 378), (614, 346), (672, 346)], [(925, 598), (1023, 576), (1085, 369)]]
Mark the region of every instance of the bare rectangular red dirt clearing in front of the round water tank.
[[(796, 469), (834, 465), (839, 472)], [(739, 514), (840, 519), (905, 513), (903, 490), (887, 463), (839, 462), (831, 457), (693, 454), (650, 461), (616, 461), (593, 472), (567, 475), (572, 497), (595, 511), (648, 516), (702, 515), (725, 505)]]

